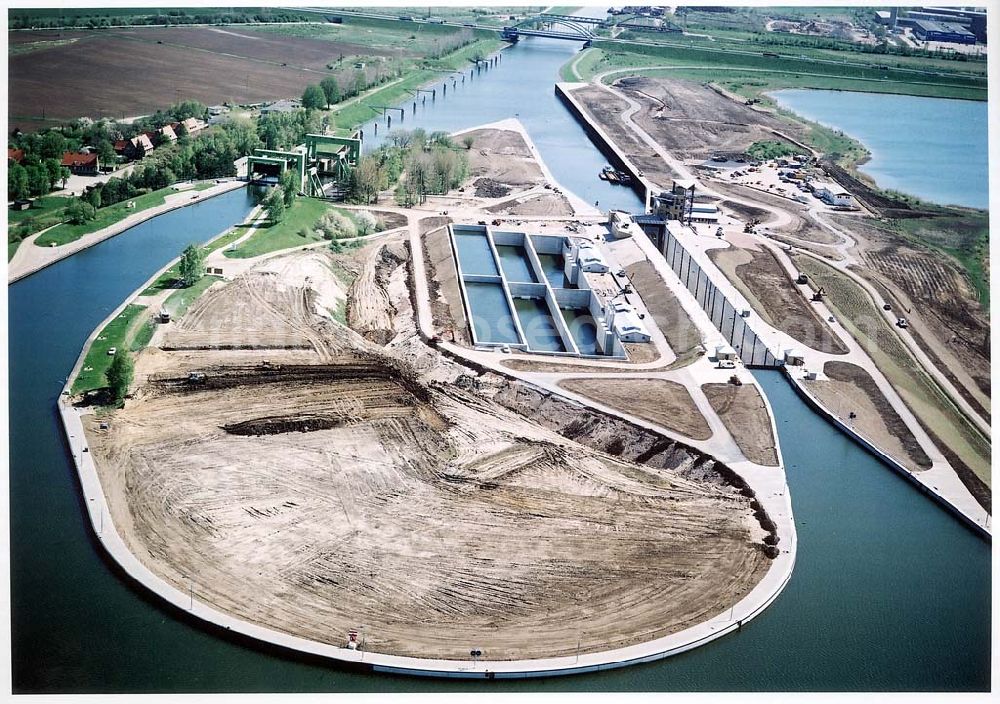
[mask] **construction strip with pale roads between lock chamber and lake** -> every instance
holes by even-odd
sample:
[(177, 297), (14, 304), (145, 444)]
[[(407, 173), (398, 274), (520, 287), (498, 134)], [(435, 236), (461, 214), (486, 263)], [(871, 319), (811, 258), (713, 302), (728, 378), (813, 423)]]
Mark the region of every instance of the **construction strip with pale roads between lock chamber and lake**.
[[(634, 224), (743, 361), (784, 368), (844, 432), (988, 532), (988, 316), (976, 270), (939, 253), (974, 247), (980, 220), (877, 190), (810, 147), (808, 124), (718, 86), (600, 78), (557, 93), (636, 177), (648, 208)], [(753, 158), (762, 144), (798, 156)]]

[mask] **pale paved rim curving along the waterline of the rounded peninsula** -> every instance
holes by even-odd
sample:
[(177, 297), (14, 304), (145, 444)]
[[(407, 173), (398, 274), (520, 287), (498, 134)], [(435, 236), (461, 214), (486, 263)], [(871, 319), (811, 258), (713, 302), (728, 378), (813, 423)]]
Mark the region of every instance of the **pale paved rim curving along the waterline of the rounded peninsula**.
[[(537, 149), (526, 133), (525, 137), (533, 153), (537, 154)], [(537, 158), (541, 161), (540, 156)], [(549, 174), (547, 168), (543, 168), (543, 173)], [(559, 187), (564, 193), (569, 193), (554, 181), (553, 186)], [(418, 230), (411, 230), (411, 245), (413, 237), (419, 239), (419, 235), (416, 234), (417, 232)], [(217, 237), (213, 237), (212, 240)], [(211, 242), (212, 240), (209, 241)], [(422, 291), (424, 300), (429, 301), (422, 248), (415, 248), (413, 251), (415, 254), (411, 258), (411, 265), (413, 267), (411, 270), (411, 280), (413, 281), (414, 290), (418, 292)], [(282, 251), (279, 251), (274, 254), (278, 255), (281, 253)], [(70, 453), (77, 469), (90, 526), (95, 537), (107, 554), (113, 558), (117, 565), (132, 580), (154, 592), (158, 597), (178, 609), (200, 620), (207, 621), (214, 627), (224, 628), (227, 631), (247, 636), (255, 641), (263, 641), (267, 646), (277, 646), (285, 650), (294, 651), (296, 655), (302, 657), (318, 656), (343, 663), (360, 665), (370, 671), (443, 678), (520, 679), (595, 672), (659, 660), (691, 650), (723, 635), (740, 630), (744, 623), (755, 618), (770, 606), (791, 579), (797, 553), (797, 537), (791, 513), (790, 491), (783, 470), (780, 446), (778, 445), (776, 422), (768, 404), (768, 415), (775, 438), (775, 449), (779, 458), (779, 466), (777, 468), (763, 468), (753, 465), (749, 461), (726, 462), (724, 464), (754, 490), (770, 519), (780, 524), (781, 530), (779, 535), (785, 540), (785, 543), (780, 548), (779, 555), (773, 559), (763, 577), (739, 601), (729, 609), (714, 615), (712, 618), (678, 633), (632, 646), (576, 656), (503, 661), (480, 660), (473, 662), (465, 660), (425, 659), (348, 650), (347, 648), (308, 640), (235, 618), (207, 603), (195, 599), (193, 592), (178, 590), (146, 567), (129, 550), (127, 544), (118, 533), (111, 519), (111, 511), (108, 507), (103, 487), (101, 486), (97, 467), (92, 454), (87, 449), (82, 417), (89, 414), (90, 411), (89, 409), (77, 409), (70, 403), (73, 380), (79, 373), (91, 344), (96, 336), (100, 334), (104, 325), (114, 316), (118, 315), (137, 295), (141, 294), (146, 286), (155, 281), (175, 261), (177, 261), (176, 258), (161, 268), (149, 281), (127, 296), (121, 305), (95, 328), (85, 342), (72, 372), (67, 377), (66, 386), (59, 396), (57, 407), (69, 444)], [(423, 308), (423, 306), (415, 306), (416, 328), (424, 342), (431, 344), (430, 340), (433, 337), (433, 331), (431, 330), (431, 334), (428, 335), (428, 326), (430, 325), (429, 318), (427, 317), (428, 311), (425, 311)], [(442, 350), (442, 352), (444, 351)], [(456, 350), (449, 351), (457, 352)], [(465, 354), (458, 354), (463, 358), (466, 357)], [(471, 361), (475, 363), (475, 360)], [(516, 378), (521, 383), (532, 383), (519, 378), (511, 370), (501, 373), (505, 376)], [(766, 396), (764, 398), (766, 399)], [(620, 417), (620, 414), (616, 415)], [(717, 461), (722, 462), (721, 460)], [(105, 513), (108, 514), (107, 521), (105, 521)]]

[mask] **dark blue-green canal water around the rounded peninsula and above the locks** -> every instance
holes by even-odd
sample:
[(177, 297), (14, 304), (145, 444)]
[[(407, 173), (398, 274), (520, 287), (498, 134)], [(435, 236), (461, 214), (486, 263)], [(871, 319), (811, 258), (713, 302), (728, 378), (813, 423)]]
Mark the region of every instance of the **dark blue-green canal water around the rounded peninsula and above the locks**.
[[(564, 186), (602, 207), (640, 207), (631, 191), (597, 178), (603, 158), (553, 95), (558, 67), (578, 48), (526, 40), (474, 89), (449, 91), (418, 117), (432, 129), (457, 129), (519, 112)], [(777, 372), (758, 378), (787, 463), (795, 572), (762, 616), (681, 656), (519, 682), (371, 675), (233, 642), (132, 588), (91, 539), (56, 397), (88, 334), (129, 292), (249, 209), (242, 192), (220, 196), (9, 288), (16, 692), (989, 688), (989, 546), (813, 414)]]

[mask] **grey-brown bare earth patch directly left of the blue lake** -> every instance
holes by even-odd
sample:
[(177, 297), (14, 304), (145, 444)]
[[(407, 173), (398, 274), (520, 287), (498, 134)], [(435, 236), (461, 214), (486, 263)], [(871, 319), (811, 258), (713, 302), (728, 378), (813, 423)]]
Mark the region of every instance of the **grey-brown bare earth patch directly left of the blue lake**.
[(795, 131), (785, 122), (692, 81), (632, 77), (615, 86), (643, 105), (635, 122), (681, 159), (706, 159), (720, 151), (738, 153), (754, 142), (780, 139), (772, 129)]

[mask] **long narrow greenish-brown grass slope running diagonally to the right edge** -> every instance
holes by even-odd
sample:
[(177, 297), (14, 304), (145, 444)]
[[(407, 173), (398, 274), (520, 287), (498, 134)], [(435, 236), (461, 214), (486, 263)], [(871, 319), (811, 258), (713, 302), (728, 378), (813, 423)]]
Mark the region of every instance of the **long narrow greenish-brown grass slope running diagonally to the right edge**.
[(815, 287), (826, 289), (827, 302), (844, 327), (885, 374), (925, 428), (931, 429), (987, 486), (990, 443), (948, 399), (913, 359), (867, 292), (844, 274), (813, 257), (794, 255), (796, 267)]

